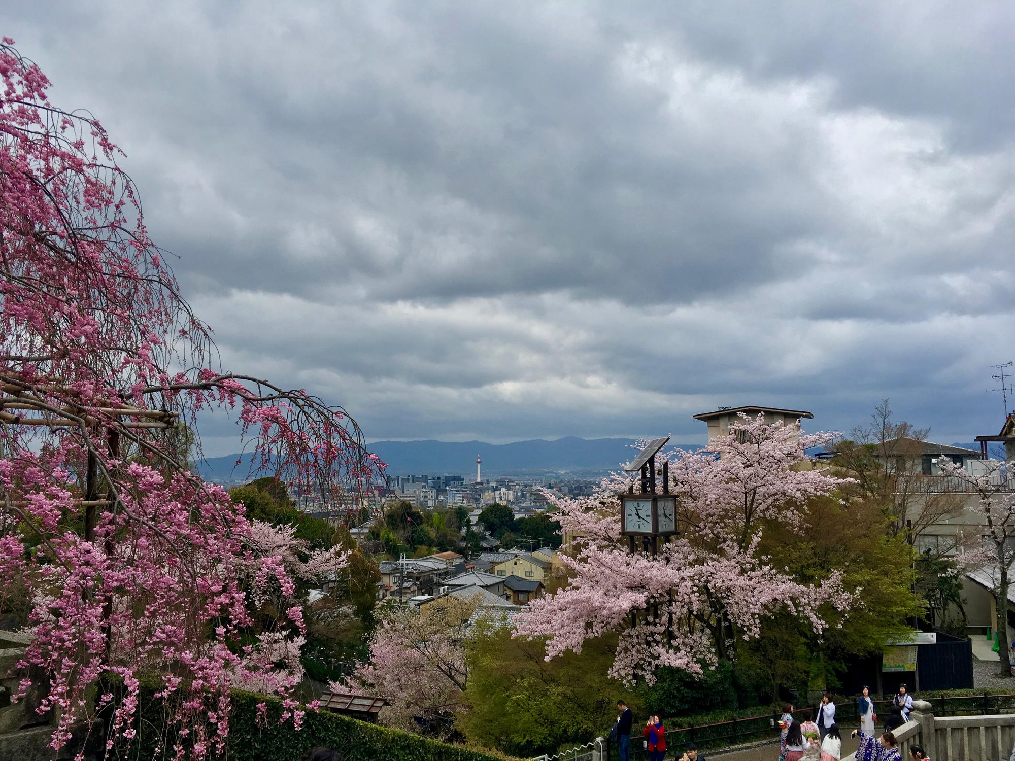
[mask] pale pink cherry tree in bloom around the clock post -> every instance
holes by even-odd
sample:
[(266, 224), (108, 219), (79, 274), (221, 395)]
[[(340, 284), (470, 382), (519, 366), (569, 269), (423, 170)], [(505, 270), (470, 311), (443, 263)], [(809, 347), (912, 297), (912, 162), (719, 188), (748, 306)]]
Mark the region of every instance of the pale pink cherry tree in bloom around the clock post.
[[(808, 520), (810, 497), (842, 483), (811, 468), (804, 455), (805, 446), (832, 437), (742, 415), (708, 452), (657, 455), (657, 473), (664, 460), (669, 465), (681, 534), (661, 542), (656, 555), (631, 552), (619, 536), (616, 492), (627, 490), (626, 474), (606, 479), (592, 497), (548, 493), (570, 538), (562, 553), (570, 578), (558, 593), (527, 606), (516, 635), (545, 637), (551, 659), (617, 632), (611, 676), (651, 684), (661, 666), (700, 673), (732, 659), (737, 640), (757, 637), (761, 622), (780, 610), (820, 631), (820, 605), (844, 610), (851, 603), (840, 574), (814, 589), (774, 568), (757, 548), (767, 522), (800, 525)], [(660, 481), (657, 490), (662, 488)]]

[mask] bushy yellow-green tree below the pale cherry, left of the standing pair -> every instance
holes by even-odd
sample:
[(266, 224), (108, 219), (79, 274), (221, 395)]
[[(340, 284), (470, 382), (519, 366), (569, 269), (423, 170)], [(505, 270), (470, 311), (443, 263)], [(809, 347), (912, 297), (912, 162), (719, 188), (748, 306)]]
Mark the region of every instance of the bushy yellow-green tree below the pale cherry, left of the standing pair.
[(615, 640), (592, 639), (581, 653), (547, 662), (541, 640), (512, 637), (506, 627), (480, 621), (467, 650), (467, 710), (456, 716), (456, 728), (473, 743), (519, 757), (605, 737), (619, 698), (642, 712), (640, 693), (606, 676), (615, 647)]

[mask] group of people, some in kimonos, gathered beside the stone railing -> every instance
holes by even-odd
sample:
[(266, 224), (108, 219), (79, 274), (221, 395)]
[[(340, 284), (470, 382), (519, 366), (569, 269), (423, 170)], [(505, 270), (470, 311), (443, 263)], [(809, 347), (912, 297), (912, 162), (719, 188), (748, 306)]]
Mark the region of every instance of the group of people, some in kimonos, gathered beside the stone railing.
[[(892, 698), (891, 713), (885, 719), (885, 729), (880, 736), (876, 735), (875, 725), (878, 720), (871, 699), (871, 691), (864, 687), (857, 701), (860, 712), (860, 729), (854, 730), (850, 737), (860, 738), (860, 748), (857, 750), (857, 761), (902, 761), (898, 749), (898, 741), (893, 734), (909, 720), (912, 710), (912, 696), (906, 691), (904, 684), (899, 685), (898, 692)], [(838, 724), (835, 721), (835, 698), (826, 692), (818, 707), (817, 722), (813, 720), (811, 711), (804, 711), (804, 720), (797, 723), (793, 719), (793, 705), (787, 703), (779, 725), (782, 729), (779, 761), (839, 761), (842, 757), (842, 739)], [(920, 746), (909, 749), (912, 761), (930, 761)]]

